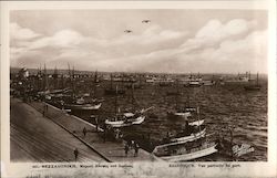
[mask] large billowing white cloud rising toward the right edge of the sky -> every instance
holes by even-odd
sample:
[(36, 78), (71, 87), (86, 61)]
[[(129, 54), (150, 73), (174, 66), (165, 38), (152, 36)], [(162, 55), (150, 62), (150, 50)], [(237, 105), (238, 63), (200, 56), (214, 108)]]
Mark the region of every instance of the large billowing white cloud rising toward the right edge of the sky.
[[(184, 66), (198, 66), (206, 72), (267, 72), (267, 30), (253, 31), (242, 39), (226, 39), (197, 53), (181, 53)], [(193, 65), (195, 63), (195, 65)], [(193, 69), (189, 69), (193, 70)], [(197, 72), (195, 69), (194, 72)]]

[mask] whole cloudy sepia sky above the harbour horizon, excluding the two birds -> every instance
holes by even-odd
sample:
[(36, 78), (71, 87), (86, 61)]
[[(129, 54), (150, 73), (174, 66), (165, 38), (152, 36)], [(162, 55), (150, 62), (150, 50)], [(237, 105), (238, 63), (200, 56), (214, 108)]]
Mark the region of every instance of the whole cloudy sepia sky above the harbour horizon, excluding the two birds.
[(44, 63), (105, 72), (267, 73), (267, 11), (11, 11), (10, 65)]

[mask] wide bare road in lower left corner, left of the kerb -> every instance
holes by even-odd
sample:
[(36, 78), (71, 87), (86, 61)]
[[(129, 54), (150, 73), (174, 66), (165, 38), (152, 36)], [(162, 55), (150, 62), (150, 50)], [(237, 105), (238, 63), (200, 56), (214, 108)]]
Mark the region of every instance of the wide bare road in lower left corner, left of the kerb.
[(11, 161), (105, 161), (69, 132), (20, 100), (10, 100)]

